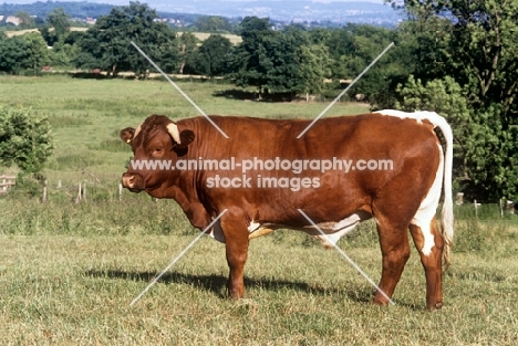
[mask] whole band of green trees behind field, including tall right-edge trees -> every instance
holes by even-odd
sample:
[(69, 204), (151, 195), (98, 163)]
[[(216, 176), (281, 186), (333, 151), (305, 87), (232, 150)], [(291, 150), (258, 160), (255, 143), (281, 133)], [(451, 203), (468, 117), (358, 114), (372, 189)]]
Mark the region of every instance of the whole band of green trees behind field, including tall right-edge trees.
[[(392, 1), (387, 1), (392, 2)], [(456, 189), (479, 200), (518, 197), (518, 0), (393, 1), (407, 13), (396, 29), (348, 24), (339, 29), (287, 25), (245, 18), (242, 42), (213, 34), (199, 42), (175, 32), (155, 10), (131, 2), (113, 8), (85, 32), (71, 32), (64, 12), (49, 17), (42, 35), (0, 33), (0, 71), (53, 66), (132, 71), (148, 62), (167, 73), (225, 76), (261, 98), (310, 94), (333, 97), (391, 42), (395, 45), (353, 86), (373, 109), (435, 111), (455, 136)], [(52, 43), (53, 49), (46, 50)]]

